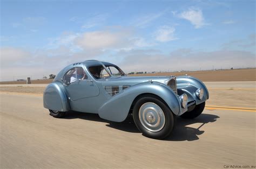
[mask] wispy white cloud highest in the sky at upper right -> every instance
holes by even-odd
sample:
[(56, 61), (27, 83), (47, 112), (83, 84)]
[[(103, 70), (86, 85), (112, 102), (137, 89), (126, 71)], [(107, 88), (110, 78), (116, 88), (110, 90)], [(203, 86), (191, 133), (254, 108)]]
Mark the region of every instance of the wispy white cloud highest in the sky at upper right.
[(191, 22), (196, 29), (207, 25), (204, 21), (203, 12), (200, 9), (188, 9), (178, 15), (179, 18), (183, 18)]

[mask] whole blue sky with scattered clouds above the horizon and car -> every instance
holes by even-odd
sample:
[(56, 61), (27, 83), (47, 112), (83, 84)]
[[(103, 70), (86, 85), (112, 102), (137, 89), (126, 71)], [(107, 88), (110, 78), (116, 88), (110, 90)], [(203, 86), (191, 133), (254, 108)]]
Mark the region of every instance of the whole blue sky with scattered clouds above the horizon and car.
[(255, 67), (255, 1), (1, 1), (1, 79), (99, 59), (131, 71)]

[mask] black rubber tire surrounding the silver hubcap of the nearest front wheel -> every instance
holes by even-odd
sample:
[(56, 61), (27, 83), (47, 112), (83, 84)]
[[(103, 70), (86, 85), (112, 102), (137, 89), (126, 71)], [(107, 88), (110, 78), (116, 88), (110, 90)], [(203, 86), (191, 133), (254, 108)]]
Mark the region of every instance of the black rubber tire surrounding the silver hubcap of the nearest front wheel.
[[(164, 113), (165, 123), (161, 125), (161, 128), (158, 129), (159, 131), (156, 131), (156, 132), (150, 131), (144, 126), (145, 124), (143, 125), (142, 122), (140, 121), (139, 110), (142, 107), (142, 105), (145, 105), (147, 103), (149, 104), (154, 103), (158, 105), (161, 108), (161, 110), (163, 110), (161, 113)], [(149, 113), (150, 112), (148, 112), (147, 114)], [(163, 118), (159, 118), (159, 119), (161, 119), (161, 121), (164, 122), (164, 120), (162, 120)], [(144, 136), (154, 138), (154, 139), (163, 139), (165, 137), (170, 136), (174, 126), (174, 115), (172, 111), (164, 103), (164, 101), (161, 100), (161, 98), (155, 95), (144, 95), (143, 97), (139, 98), (136, 101), (133, 107), (133, 120), (137, 128), (143, 133)], [(144, 123), (145, 123), (145, 119), (144, 119)]]

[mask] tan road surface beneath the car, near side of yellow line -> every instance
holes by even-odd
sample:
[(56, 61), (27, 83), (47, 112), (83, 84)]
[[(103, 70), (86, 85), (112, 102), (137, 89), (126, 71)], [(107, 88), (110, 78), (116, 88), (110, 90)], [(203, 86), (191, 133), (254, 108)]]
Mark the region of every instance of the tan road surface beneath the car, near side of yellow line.
[(205, 110), (177, 118), (170, 138), (125, 121), (71, 112), (53, 118), (40, 95), (0, 94), (0, 168), (255, 166), (255, 111)]

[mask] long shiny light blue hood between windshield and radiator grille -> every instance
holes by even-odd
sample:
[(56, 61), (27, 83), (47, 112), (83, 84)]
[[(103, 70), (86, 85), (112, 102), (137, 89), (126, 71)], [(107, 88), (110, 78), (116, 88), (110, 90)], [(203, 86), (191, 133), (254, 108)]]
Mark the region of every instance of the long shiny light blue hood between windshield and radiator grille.
[(136, 85), (137, 83), (143, 83), (147, 81), (154, 81), (164, 83), (165, 85), (175, 76), (112, 76), (107, 79), (100, 79), (102, 82), (111, 84), (123, 84), (123, 85)]

